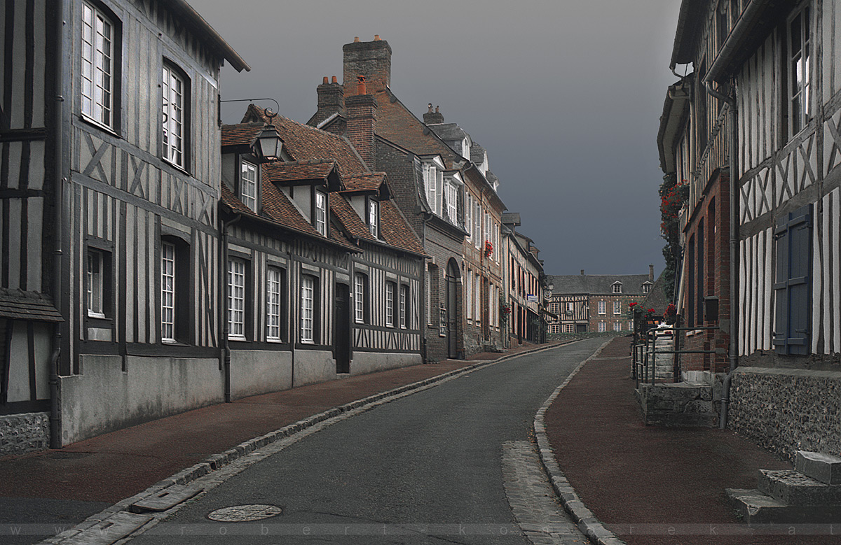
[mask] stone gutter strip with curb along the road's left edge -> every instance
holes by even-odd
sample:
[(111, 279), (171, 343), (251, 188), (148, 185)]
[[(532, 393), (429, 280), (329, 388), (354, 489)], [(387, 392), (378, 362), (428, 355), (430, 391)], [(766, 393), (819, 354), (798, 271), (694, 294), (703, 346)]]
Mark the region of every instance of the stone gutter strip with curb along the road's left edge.
[[(139, 494), (133, 495), (110, 506), (104, 511), (96, 515), (89, 516), (87, 520), (78, 524), (76, 527), (61, 532), (60, 534), (49, 537), (41, 541), (42, 545), (111, 545), (112, 543), (124, 543), (130, 541), (132, 537), (146, 532), (151, 527), (173, 513), (180, 510), (183, 506), (189, 505), (195, 500), (201, 498), (206, 490), (210, 490), (220, 484), (226, 479), (230, 479), (235, 474), (240, 473), (251, 464), (256, 464), (262, 459), (266, 459), (274, 453), (278, 453), (289, 445), (298, 443), (309, 435), (319, 432), (327, 426), (331, 426), (336, 422), (341, 422), (347, 418), (353, 417), (361, 412), (370, 411), (371, 409), (394, 401), (405, 396), (411, 396), (422, 390), (427, 390), (436, 385), (442, 384), (449, 380), (457, 379), (463, 375), (468, 375), (476, 369), (481, 369), (489, 365), (498, 364), (500, 362), (518, 358), (526, 354), (534, 354), (544, 350), (551, 350), (558, 348), (558, 346), (569, 346), (569, 344), (556, 344), (551, 347), (535, 348), (518, 352), (516, 354), (507, 354), (499, 359), (479, 361), (476, 364), (463, 367), (462, 369), (455, 369), (436, 375), (426, 380), (419, 380), (408, 385), (399, 386), (394, 390), (387, 390), (368, 396), (357, 401), (352, 401), (341, 406), (333, 407), (328, 411), (323, 411), (311, 417), (304, 418), (299, 422), (282, 427), (273, 432), (266, 433), (257, 438), (241, 443), (234, 448), (230, 448), (223, 453), (209, 456), (203, 462), (194, 464), (187, 469), (179, 471), (167, 479), (163, 479), (151, 485), (146, 490)], [(176, 485), (190, 485), (194, 487), (195, 493), (190, 495), (190, 499), (172, 506), (167, 511), (157, 511), (145, 513), (145, 515), (135, 515), (130, 511), (136, 511), (136, 504), (149, 500), (151, 497), (158, 497), (162, 490), (167, 490), (169, 487)]]

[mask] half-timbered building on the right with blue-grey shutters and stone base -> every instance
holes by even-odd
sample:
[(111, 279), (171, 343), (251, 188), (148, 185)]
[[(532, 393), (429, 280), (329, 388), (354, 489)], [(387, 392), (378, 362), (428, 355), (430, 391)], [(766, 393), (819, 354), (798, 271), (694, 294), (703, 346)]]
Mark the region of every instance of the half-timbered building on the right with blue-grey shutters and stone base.
[[(672, 66), (693, 65), (692, 102), (709, 112), (686, 159), (674, 149), (677, 168), (697, 172), (699, 184), (717, 169), (731, 179), (722, 189), (732, 198), (719, 202), (732, 214), (717, 213), (733, 223), (736, 287), (721, 296), (733, 307), (738, 369), (722, 409), (729, 402), (730, 427), (786, 456), (841, 448), (826, 417), (841, 381), (839, 16), (837, 0), (684, 2), (672, 56)], [(695, 207), (690, 199), (690, 216)]]

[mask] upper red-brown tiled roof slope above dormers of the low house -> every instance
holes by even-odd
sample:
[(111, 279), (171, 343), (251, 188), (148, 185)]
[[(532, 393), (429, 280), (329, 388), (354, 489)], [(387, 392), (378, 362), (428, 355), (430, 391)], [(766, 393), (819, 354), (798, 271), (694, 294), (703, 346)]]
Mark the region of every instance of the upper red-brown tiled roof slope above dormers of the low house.
[(346, 139), (277, 115), (267, 118), (261, 107), (248, 106), (246, 118), (256, 116), (272, 123), (283, 140), (283, 149), (295, 160), (335, 160), (342, 178), (365, 174), (368, 168)]

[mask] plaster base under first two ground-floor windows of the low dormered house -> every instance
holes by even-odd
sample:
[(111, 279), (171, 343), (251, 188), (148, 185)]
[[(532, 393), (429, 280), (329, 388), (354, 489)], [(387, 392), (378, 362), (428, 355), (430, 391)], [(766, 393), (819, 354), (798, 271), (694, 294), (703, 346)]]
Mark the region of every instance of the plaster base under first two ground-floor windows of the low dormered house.
[(234, 399), (292, 387), (292, 354), (274, 350), (232, 350), (230, 394)]

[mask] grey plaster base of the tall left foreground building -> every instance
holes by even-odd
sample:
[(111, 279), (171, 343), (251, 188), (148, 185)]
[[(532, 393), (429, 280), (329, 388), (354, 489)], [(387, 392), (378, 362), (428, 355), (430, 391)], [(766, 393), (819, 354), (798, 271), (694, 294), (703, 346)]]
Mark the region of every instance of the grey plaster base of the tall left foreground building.
[(82, 355), (61, 377), (61, 444), (224, 401), (218, 359)]

